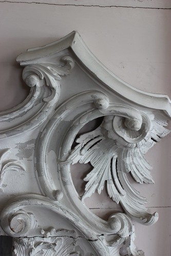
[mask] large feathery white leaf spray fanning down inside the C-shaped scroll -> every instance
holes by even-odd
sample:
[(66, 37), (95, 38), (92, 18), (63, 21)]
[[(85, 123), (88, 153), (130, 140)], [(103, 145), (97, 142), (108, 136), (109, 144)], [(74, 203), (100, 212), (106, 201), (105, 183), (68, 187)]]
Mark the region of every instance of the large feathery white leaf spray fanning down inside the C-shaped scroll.
[(93, 167), (84, 178), (87, 183), (82, 200), (95, 190), (100, 194), (106, 182), (107, 193), (113, 201), (121, 203), (132, 218), (151, 225), (157, 221), (158, 214), (146, 215), (143, 205), (147, 201), (131, 186), (127, 173), (140, 184), (154, 183), (150, 174), (152, 167), (144, 154), (169, 130), (164, 127), (164, 117), (159, 122), (158, 116), (152, 113), (141, 115), (141, 127), (141, 122), (125, 119), (122, 107), (120, 115), (104, 116), (100, 127), (76, 140), (78, 145), (71, 150), (66, 161), (71, 161), (71, 164), (90, 162)]

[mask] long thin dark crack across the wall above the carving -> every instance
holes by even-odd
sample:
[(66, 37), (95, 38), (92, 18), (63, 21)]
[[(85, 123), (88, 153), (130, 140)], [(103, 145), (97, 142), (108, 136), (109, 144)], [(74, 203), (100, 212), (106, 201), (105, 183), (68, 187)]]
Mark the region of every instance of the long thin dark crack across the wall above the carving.
[(41, 3), (41, 2), (16, 2), (16, 1), (0, 1), (0, 3), (14, 3), (14, 4), (40, 4), (40, 5), (52, 5), (52, 6), (75, 6), (75, 7), (100, 7), (100, 8), (132, 8), (132, 9), (151, 9), (151, 10), (171, 10), (171, 8), (160, 8), (160, 7), (139, 7), (139, 6), (100, 6), (100, 5), (74, 5), (74, 4), (52, 4), (52, 3)]

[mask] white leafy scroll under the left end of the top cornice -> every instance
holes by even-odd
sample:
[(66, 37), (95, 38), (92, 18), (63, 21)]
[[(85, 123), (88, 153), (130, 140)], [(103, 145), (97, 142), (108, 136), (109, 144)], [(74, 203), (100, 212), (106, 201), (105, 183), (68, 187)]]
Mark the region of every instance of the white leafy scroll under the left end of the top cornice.
[(34, 129), (53, 113), (61, 93), (61, 76), (68, 75), (74, 67), (70, 55), (62, 56), (60, 63), (21, 63), (26, 66), (23, 70), (23, 80), (31, 87), (30, 94), (12, 113), (4, 111), (1, 117), (3, 128), (0, 131), (0, 139)]

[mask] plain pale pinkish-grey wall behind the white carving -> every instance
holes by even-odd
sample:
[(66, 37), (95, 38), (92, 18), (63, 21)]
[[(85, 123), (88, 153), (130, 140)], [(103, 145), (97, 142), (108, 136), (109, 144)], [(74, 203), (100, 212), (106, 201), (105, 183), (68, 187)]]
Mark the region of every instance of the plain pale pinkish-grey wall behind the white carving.
[[(0, 1), (0, 24), (1, 110), (21, 103), (29, 92), (15, 57), (27, 48), (56, 41), (72, 30), (78, 30), (94, 55), (124, 81), (171, 97), (169, 0), (42, 0), (40, 4)], [(134, 184), (149, 199), (150, 211), (160, 214), (154, 226), (135, 224), (136, 244), (146, 256), (170, 255), (170, 142), (168, 135), (147, 155), (154, 167), (156, 184)], [(74, 179), (77, 183), (77, 175)], [(105, 193), (94, 194), (87, 205), (102, 218), (116, 211)]]

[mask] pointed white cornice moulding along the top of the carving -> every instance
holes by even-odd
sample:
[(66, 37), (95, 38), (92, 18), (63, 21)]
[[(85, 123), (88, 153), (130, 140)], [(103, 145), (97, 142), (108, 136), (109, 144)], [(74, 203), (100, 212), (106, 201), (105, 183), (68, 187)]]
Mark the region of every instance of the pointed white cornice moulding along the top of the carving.
[(99, 80), (102, 87), (106, 87), (126, 101), (147, 108), (163, 110), (171, 116), (171, 101), (167, 95), (144, 92), (121, 80), (93, 55), (77, 31), (71, 32), (54, 43), (29, 49), (26, 53), (21, 53), (16, 61), (22, 66), (42, 63), (46, 62), (47, 57), (58, 56), (66, 49), (74, 53), (75, 61), (78, 62), (79, 60), (85, 72)]

